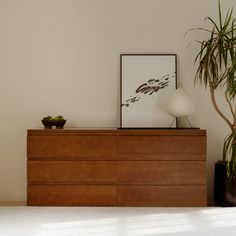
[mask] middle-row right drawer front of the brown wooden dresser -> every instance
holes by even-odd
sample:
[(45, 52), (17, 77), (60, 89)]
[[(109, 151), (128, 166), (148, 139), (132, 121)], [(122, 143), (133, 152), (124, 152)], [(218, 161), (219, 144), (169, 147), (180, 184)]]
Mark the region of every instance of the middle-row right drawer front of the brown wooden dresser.
[(119, 184), (205, 185), (204, 161), (119, 161)]

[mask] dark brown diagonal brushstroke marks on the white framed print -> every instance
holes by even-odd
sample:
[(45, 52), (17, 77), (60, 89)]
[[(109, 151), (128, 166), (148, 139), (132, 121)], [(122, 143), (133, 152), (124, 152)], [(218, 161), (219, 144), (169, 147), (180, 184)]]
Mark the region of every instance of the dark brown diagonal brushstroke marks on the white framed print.
[(131, 95), (124, 103), (121, 104), (121, 107), (128, 108), (131, 105), (145, 99), (147, 95), (151, 96), (161, 89), (164, 89), (169, 86), (170, 80), (175, 78), (175, 73), (167, 74), (161, 78), (150, 78), (147, 82), (142, 83), (134, 90), (134, 95)]

